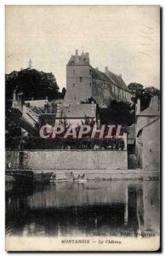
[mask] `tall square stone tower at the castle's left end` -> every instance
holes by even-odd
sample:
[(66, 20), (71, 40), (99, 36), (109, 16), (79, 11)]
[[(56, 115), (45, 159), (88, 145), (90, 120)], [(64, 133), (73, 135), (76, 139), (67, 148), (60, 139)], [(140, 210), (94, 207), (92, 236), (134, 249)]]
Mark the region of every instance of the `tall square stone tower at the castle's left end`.
[(92, 96), (92, 67), (89, 64), (88, 53), (71, 55), (66, 65), (65, 102), (87, 102)]

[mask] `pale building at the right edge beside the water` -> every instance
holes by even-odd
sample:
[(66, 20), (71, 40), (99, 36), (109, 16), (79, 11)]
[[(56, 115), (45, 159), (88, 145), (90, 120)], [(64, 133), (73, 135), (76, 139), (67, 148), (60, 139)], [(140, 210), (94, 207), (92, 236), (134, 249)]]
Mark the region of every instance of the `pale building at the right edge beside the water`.
[(135, 150), (139, 166), (145, 171), (159, 171), (160, 113), (158, 97), (153, 96), (149, 108), (144, 111), (140, 111), (140, 102), (138, 102), (136, 117)]

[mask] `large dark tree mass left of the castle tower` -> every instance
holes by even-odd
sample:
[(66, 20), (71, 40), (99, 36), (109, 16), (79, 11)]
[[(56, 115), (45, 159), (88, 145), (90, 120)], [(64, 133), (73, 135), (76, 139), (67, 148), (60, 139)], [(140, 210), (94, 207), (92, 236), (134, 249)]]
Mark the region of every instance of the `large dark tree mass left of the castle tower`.
[(22, 91), (25, 99), (33, 96), (35, 99), (41, 99), (48, 96), (49, 99), (58, 98), (59, 86), (53, 73), (39, 72), (36, 69), (26, 68), (19, 72), (14, 71), (6, 74), (6, 98), (12, 99), (13, 92)]

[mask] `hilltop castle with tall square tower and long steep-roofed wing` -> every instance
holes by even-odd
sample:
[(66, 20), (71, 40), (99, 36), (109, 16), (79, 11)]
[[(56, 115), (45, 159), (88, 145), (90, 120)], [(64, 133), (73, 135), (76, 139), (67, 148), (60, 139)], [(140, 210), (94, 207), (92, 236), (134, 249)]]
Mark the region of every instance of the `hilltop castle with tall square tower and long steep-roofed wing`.
[(122, 80), (105, 67), (105, 73), (90, 65), (88, 53), (71, 55), (66, 65), (65, 102), (88, 102), (93, 97), (100, 107), (106, 107), (111, 100), (131, 102), (131, 93)]

